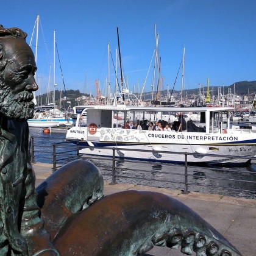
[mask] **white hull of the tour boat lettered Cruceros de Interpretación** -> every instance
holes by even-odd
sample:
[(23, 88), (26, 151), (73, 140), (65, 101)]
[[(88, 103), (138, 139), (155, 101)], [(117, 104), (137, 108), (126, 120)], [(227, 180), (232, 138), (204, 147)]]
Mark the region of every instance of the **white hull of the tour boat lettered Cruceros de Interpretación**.
[[(243, 165), (256, 155), (256, 137), (239, 134), (152, 132), (148, 130), (98, 129), (95, 135), (87, 127), (73, 127), (66, 138), (79, 139), (80, 154), (112, 157), (112, 148), (119, 148), (115, 157), (153, 162)], [(247, 138), (244, 140), (244, 138)], [(138, 151), (137, 151), (138, 150)], [(153, 152), (152, 152), (153, 151)], [(161, 152), (158, 152), (161, 151)], [(190, 155), (193, 154), (193, 155)], [(224, 157), (225, 156), (225, 157)]]

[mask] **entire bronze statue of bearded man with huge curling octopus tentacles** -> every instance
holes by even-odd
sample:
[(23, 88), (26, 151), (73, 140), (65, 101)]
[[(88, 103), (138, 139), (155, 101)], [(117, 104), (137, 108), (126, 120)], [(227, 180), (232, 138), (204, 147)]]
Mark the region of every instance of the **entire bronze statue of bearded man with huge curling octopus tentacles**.
[(21, 29), (0, 26), (0, 255), (137, 255), (154, 245), (241, 255), (169, 196), (123, 191), (103, 197), (102, 174), (85, 160), (58, 169), (35, 192), (26, 120), (34, 113), (37, 68), (25, 38)]

